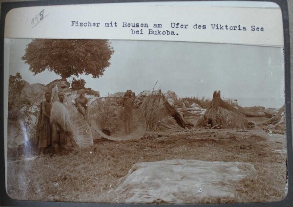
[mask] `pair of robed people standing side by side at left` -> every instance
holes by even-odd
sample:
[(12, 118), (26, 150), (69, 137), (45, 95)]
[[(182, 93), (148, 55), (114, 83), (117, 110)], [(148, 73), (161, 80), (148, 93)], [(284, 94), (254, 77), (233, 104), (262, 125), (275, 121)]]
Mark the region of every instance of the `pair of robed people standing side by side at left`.
[(50, 147), (55, 153), (64, 152), (68, 141), (73, 141), (70, 115), (64, 105), (65, 93), (58, 92), (58, 98), (51, 104), (51, 94), (46, 92), (45, 101), (41, 103), (35, 136), (39, 155), (46, 154)]

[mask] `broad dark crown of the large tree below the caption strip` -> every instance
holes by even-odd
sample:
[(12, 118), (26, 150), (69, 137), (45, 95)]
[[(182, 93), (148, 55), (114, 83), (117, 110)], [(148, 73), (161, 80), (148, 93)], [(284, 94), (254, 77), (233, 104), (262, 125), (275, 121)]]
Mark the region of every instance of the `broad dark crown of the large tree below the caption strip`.
[(62, 78), (83, 73), (99, 78), (110, 66), (113, 52), (107, 40), (35, 39), (21, 59), (35, 75), (47, 69)]

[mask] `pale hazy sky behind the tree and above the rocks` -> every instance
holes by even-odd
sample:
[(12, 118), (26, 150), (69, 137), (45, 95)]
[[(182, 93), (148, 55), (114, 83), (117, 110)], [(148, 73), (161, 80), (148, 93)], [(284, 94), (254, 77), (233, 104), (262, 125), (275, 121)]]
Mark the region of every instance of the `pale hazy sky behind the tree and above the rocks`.
[[(32, 83), (48, 84), (61, 79), (53, 72), (33, 75), (22, 60), (30, 39), (5, 39), (9, 53), (9, 74), (21, 72)], [(284, 55), (280, 47), (230, 44), (116, 41), (115, 52), (104, 76), (93, 79), (80, 75), (86, 87), (108, 93), (131, 89), (138, 94), (155, 89), (171, 90), (179, 97), (212, 97), (220, 90), (226, 98), (238, 99), (241, 106), (281, 107), (284, 102)], [(9, 52), (10, 51), (10, 52)], [(6, 54), (7, 57), (7, 54)], [(70, 81), (71, 78), (68, 78)]]

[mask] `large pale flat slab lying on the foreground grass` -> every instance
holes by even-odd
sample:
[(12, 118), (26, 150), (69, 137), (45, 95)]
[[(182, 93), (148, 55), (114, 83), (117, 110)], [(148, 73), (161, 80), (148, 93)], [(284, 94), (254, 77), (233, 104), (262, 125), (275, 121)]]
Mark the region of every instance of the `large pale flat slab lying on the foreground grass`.
[(136, 163), (115, 189), (119, 203), (186, 203), (234, 198), (235, 181), (256, 174), (243, 162), (166, 160)]

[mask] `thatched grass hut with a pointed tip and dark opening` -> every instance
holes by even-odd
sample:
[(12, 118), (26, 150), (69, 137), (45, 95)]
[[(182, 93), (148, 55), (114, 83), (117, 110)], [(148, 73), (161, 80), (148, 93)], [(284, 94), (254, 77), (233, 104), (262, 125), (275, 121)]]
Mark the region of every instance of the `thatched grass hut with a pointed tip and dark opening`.
[[(241, 113), (221, 99), (220, 91), (213, 93), (212, 101), (204, 115), (207, 115), (210, 123), (213, 124), (217, 114), (222, 118), (224, 128), (244, 129), (250, 127), (248, 120)], [(204, 117), (201, 117), (196, 126), (201, 127), (203, 120)]]

